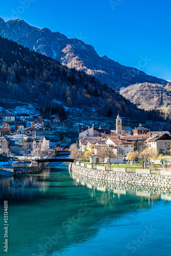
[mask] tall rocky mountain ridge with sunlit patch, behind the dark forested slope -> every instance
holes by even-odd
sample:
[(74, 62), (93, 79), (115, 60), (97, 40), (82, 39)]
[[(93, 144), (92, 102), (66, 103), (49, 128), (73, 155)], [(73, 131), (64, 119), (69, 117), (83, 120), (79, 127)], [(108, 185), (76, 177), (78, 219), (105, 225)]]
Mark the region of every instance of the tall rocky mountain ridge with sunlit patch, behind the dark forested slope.
[(0, 35), (56, 59), (68, 68), (93, 75), (116, 91), (135, 83), (167, 83), (164, 79), (149, 76), (138, 69), (122, 66), (106, 56), (100, 57), (91, 45), (79, 39), (69, 39), (48, 28), (32, 27), (22, 19), (4, 22), (0, 18)]

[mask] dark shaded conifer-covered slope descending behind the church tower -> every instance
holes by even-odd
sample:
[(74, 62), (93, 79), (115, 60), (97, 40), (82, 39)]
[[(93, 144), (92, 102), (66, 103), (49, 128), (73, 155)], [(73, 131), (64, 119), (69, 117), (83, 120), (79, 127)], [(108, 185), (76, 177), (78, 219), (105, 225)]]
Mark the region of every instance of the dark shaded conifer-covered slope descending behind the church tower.
[[(1, 97), (27, 99), (41, 106), (53, 99), (68, 106), (90, 106), (100, 114), (145, 119), (130, 100), (82, 71), (68, 69), (50, 57), (0, 37)], [(157, 113), (159, 115), (159, 113)]]

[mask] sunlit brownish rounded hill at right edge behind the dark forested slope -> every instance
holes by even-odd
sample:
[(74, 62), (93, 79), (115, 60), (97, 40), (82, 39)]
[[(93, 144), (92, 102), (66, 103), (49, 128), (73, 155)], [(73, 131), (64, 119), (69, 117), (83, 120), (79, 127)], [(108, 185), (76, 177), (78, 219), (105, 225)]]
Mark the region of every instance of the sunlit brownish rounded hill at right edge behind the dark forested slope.
[(171, 83), (169, 82), (167, 84), (147, 82), (132, 84), (122, 88), (120, 94), (135, 103), (140, 109), (157, 109), (167, 114), (171, 111)]

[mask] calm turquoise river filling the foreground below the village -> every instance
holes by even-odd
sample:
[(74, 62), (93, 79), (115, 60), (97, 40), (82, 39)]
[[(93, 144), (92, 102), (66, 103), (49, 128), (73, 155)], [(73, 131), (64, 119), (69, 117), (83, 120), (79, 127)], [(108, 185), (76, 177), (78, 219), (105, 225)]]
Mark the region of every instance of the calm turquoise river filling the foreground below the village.
[(171, 197), (103, 191), (74, 178), (67, 165), (1, 178), (0, 190), (0, 255), (171, 255)]

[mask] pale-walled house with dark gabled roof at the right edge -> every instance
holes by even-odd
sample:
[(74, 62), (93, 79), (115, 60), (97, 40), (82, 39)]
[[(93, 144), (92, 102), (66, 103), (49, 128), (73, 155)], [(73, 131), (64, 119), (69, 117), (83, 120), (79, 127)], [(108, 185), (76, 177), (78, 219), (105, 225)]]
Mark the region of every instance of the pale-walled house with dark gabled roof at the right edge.
[(160, 153), (168, 151), (171, 145), (171, 136), (167, 133), (157, 134), (145, 141), (148, 148), (158, 150)]

